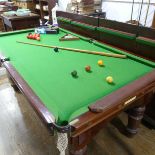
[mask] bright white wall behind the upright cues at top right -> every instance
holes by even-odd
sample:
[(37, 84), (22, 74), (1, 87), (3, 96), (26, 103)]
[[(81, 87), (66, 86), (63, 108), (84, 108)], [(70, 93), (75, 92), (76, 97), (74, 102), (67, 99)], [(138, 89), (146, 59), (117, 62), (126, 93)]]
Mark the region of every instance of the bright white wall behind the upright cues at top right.
[[(119, 0), (122, 2), (118, 2), (118, 0), (103, 0), (102, 3), (102, 10), (106, 12), (107, 14), (107, 19), (111, 20), (117, 20), (121, 22), (126, 22), (131, 19), (131, 11), (132, 11), (132, 1), (133, 0)], [(148, 11), (148, 16), (146, 18), (147, 14), (147, 8), (149, 0), (144, 0), (143, 7), (142, 7), (142, 14), (140, 18), (140, 23), (142, 25), (145, 25), (147, 27), (150, 27), (152, 25), (152, 20), (153, 20), (153, 15), (155, 11), (155, 5), (150, 5), (149, 11)], [(139, 14), (140, 14), (140, 7), (141, 7), (141, 2), (142, 0), (135, 0), (135, 2), (139, 2), (137, 4), (134, 4), (134, 9), (133, 9), (133, 20), (139, 20)], [(155, 3), (154, 0), (151, 0), (151, 2)], [(146, 22), (145, 22), (146, 20)]]

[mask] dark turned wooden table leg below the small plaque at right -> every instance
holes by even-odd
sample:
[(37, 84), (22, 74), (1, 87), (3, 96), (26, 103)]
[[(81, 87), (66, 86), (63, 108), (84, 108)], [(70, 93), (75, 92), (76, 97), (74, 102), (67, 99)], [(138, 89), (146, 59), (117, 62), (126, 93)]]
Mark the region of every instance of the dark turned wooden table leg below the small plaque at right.
[(143, 118), (145, 106), (135, 107), (128, 111), (127, 134), (132, 137), (138, 132), (139, 124)]

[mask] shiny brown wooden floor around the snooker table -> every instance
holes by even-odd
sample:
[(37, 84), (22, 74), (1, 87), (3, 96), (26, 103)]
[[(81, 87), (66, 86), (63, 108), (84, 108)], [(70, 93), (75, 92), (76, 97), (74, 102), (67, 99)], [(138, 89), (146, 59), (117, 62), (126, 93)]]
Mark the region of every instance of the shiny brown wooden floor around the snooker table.
[[(113, 125), (121, 120), (126, 122), (125, 113), (94, 137), (88, 155), (155, 155), (155, 130), (141, 125), (129, 139)], [(55, 141), (23, 95), (0, 76), (0, 155), (58, 155)]]

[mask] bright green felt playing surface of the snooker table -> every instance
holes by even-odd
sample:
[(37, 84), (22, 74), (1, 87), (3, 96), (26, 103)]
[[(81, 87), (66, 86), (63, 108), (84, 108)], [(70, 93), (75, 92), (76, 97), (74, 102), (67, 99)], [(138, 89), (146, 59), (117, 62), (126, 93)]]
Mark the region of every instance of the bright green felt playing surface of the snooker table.
[[(112, 49), (106, 45), (101, 47), (98, 43), (90, 44), (83, 39), (60, 42), (59, 38), (66, 33), (68, 31), (63, 30), (59, 34), (42, 34), (40, 42), (27, 39), (26, 31), (0, 35), (0, 51), (10, 57), (11, 64), (54, 114), (59, 124), (88, 111), (88, 105), (138, 79), (155, 66), (131, 55), (127, 59), (120, 59), (65, 50), (54, 52), (51, 48), (16, 42), (18, 40), (101, 52), (110, 52)], [(98, 66), (98, 60), (104, 61), (103, 67)], [(86, 65), (91, 66), (91, 73), (85, 71)], [(72, 77), (73, 70), (77, 71), (78, 78)], [(114, 84), (106, 82), (107, 76), (113, 77)]]

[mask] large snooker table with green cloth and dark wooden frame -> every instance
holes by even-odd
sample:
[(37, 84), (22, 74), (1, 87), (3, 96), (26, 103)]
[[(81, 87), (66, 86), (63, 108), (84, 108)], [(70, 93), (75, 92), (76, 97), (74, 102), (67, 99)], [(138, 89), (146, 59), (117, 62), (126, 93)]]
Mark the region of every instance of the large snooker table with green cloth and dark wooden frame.
[[(47, 128), (67, 133), (71, 155), (86, 154), (92, 137), (122, 111), (128, 112), (128, 136), (135, 135), (145, 110), (145, 98), (155, 91), (155, 63), (125, 53), (65, 29), (28, 40), (33, 29), (0, 34), (0, 65), (26, 96)], [(79, 40), (59, 41), (66, 34)], [(90, 51), (125, 54), (106, 57), (20, 44), (17, 41)], [(9, 59), (8, 59), (9, 58)], [(104, 66), (97, 61), (103, 60)], [(91, 66), (91, 72), (85, 66)], [(77, 71), (78, 77), (71, 75)], [(106, 77), (112, 76), (109, 84)]]

